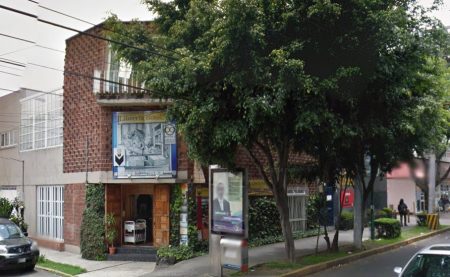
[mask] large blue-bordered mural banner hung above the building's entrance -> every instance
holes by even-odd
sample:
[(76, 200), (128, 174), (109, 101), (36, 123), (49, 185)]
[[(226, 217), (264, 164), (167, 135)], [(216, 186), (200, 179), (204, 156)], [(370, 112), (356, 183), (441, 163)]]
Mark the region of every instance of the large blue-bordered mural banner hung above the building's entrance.
[(176, 125), (164, 111), (114, 112), (113, 177), (174, 178)]

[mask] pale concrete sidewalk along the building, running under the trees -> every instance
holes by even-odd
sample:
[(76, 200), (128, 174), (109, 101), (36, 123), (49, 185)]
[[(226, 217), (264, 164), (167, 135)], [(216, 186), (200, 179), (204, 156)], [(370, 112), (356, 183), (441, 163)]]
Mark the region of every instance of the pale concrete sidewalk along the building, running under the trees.
[[(441, 214), (440, 223), (450, 225), (450, 213)], [(416, 226), (415, 216), (411, 216), (408, 227)], [(330, 240), (333, 239), (334, 231), (329, 232)], [(369, 228), (364, 229), (363, 240), (369, 239)], [(353, 242), (353, 230), (340, 231), (340, 245), (351, 244)], [(297, 257), (313, 254), (316, 247), (316, 237), (309, 237), (295, 241)], [(319, 249), (326, 250), (326, 243), (323, 235), (319, 238)], [(60, 263), (77, 265), (85, 268), (88, 272), (81, 274), (81, 277), (91, 276), (209, 276), (209, 256), (201, 256), (190, 260), (182, 261), (167, 268), (155, 270), (155, 263), (150, 262), (117, 262), (117, 261), (88, 261), (81, 258), (81, 255), (58, 252), (55, 250), (41, 248), (41, 254), (46, 258)], [(249, 266), (254, 266), (264, 262), (285, 259), (284, 243), (275, 243), (260, 247), (254, 247), (249, 250)]]

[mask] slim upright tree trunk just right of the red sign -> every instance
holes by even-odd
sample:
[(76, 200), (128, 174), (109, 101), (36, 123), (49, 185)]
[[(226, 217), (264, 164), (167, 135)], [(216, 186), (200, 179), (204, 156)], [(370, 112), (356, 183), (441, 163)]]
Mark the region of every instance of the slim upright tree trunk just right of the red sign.
[(363, 223), (363, 188), (359, 177), (355, 181), (355, 199), (353, 209), (353, 245), (356, 249), (362, 249), (362, 234), (364, 229)]

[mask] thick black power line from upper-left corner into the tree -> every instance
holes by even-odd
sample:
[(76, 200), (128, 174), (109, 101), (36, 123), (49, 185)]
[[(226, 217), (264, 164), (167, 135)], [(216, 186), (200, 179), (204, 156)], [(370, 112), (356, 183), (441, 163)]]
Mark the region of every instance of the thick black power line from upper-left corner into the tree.
[(135, 49), (135, 50), (144, 51), (144, 52), (156, 55), (156, 56), (164, 57), (166, 59), (177, 60), (174, 57), (171, 57), (171, 56), (168, 56), (168, 55), (165, 55), (165, 54), (161, 54), (159, 52), (155, 52), (155, 51), (152, 51), (152, 50), (149, 50), (149, 49), (136, 47), (136, 46), (129, 45), (129, 44), (126, 44), (126, 43), (123, 43), (123, 42), (120, 42), (120, 41), (116, 41), (116, 40), (110, 39), (110, 38), (105, 38), (105, 37), (102, 37), (102, 36), (99, 36), (99, 35), (95, 35), (95, 34), (91, 34), (91, 33), (85, 32), (85, 31), (80, 31), (80, 30), (77, 30), (75, 28), (64, 26), (64, 25), (61, 25), (61, 24), (58, 24), (58, 23), (55, 23), (55, 22), (52, 22), (52, 21), (48, 21), (48, 20), (45, 20), (45, 19), (40, 19), (37, 15), (31, 14), (31, 13), (27, 13), (27, 12), (24, 12), (24, 11), (21, 11), (21, 10), (17, 10), (17, 9), (14, 9), (14, 8), (11, 8), (11, 7), (0, 5), (0, 9), (4, 9), (4, 10), (10, 11), (10, 12), (18, 13), (18, 14), (21, 14), (21, 15), (24, 15), (24, 16), (27, 16), (27, 17), (35, 18), (39, 22), (42, 22), (42, 23), (45, 23), (45, 24), (48, 24), (48, 25), (51, 25), (51, 26), (54, 26), (54, 27), (66, 29), (66, 30), (69, 30), (69, 31), (72, 31), (72, 32), (76, 32), (76, 33), (79, 33), (79, 34), (83, 34), (83, 35), (86, 35), (86, 36), (89, 36), (89, 37), (92, 37), (92, 38), (95, 38), (95, 39), (100, 39), (100, 40), (104, 40), (104, 41), (107, 41), (107, 42), (110, 42), (110, 43), (121, 45), (121, 46), (124, 46), (124, 47), (127, 47), (127, 48), (132, 48), (132, 49)]

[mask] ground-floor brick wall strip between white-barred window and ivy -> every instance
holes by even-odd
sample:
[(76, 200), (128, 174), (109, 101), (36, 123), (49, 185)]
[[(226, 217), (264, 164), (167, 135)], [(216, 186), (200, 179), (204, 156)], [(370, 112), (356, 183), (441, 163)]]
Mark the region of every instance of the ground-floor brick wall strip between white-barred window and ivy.
[(85, 208), (85, 184), (64, 187), (64, 243), (80, 245), (80, 227)]

